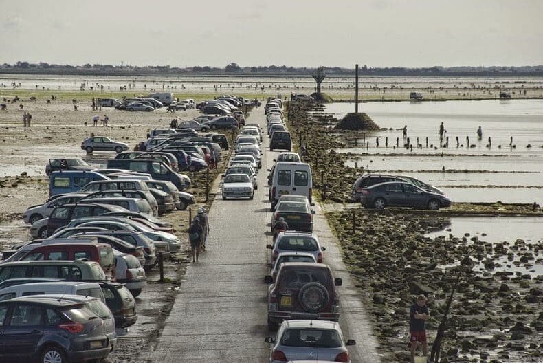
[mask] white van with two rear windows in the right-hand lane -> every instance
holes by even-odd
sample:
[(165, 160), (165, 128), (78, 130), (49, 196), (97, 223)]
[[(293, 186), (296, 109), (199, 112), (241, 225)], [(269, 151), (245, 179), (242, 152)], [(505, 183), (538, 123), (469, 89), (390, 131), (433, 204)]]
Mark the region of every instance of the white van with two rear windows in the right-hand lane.
[(272, 189), (269, 201), (272, 209), (281, 195), (303, 195), (311, 202), (313, 177), (311, 166), (306, 163), (277, 162), (272, 175)]

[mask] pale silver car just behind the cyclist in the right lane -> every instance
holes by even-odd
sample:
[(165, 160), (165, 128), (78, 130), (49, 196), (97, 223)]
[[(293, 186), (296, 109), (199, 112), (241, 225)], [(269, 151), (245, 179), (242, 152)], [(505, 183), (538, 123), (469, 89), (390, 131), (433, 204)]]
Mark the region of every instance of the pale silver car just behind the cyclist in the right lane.
[(317, 236), (308, 232), (285, 231), (280, 232), (273, 245), (266, 245), (266, 248), (272, 250), (272, 263), (274, 263), (282, 252), (309, 252), (315, 256), (318, 263), (322, 263), (324, 258), (322, 252), (326, 251), (321, 247)]

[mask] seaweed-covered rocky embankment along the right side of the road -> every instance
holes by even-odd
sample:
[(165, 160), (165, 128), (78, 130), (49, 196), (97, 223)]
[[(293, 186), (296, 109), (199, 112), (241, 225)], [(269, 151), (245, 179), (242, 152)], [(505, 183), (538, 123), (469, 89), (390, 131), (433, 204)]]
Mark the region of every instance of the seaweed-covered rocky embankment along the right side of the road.
[[(344, 166), (346, 155), (330, 151), (339, 146), (329, 131), (330, 120), (312, 119), (307, 111), (307, 106), (289, 104), (293, 140), (299, 142), (302, 135), (304, 160), (312, 164), (319, 188), (316, 194), (324, 197), (325, 184), (326, 201), (344, 203), (361, 171)], [(351, 208), (336, 204), (326, 216), (344, 261), (359, 281), (386, 362), (409, 360), (408, 315), (417, 294), (429, 298), (432, 348), (457, 278), (440, 362), (543, 361), (543, 275), (535, 272), (535, 266), (543, 264), (543, 239), (489, 243), (484, 233), (454, 236), (447, 230), (443, 236), (425, 236), (446, 228), (450, 215), (540, 211), (494, 203), (466, 203), (439, 212)]]

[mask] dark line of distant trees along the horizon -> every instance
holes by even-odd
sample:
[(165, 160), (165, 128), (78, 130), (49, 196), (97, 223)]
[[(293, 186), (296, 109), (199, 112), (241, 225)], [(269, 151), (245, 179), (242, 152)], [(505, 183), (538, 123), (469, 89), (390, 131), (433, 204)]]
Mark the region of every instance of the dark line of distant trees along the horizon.
[[(85, 65), (57, 65), (45, 62), (29, 63), (19, 61), (13, 65), (3, 63), (0, 73), (3, 74), (80, 74), (111, 76), (177, 76), (177, 75), (258, 75), (258, 76), (300, 76), (315, 72), (311, 67), (287, 67), (286, 65), (268, 65), (258, 67), (241, 67), (230, 63), (224, 68), (210, 66), (170, 67), (169, 65), (101, 65), (87, 63)], [(329, 76), (353, 76), (354, 67), (323, 67)], [(359, 67), (361, 76), (543, 76), (543, 65), (522, 67)]]

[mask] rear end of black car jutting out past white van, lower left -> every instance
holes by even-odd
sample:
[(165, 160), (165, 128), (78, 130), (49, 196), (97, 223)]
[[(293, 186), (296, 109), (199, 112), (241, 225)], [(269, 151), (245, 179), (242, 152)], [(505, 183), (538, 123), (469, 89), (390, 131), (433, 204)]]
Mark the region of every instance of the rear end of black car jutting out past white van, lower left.
[(98, 282), (106, 298), (106, 305), (115, 317), (115, 327), (130, 327), (137, 320), (135, 298), (124, 284)]

